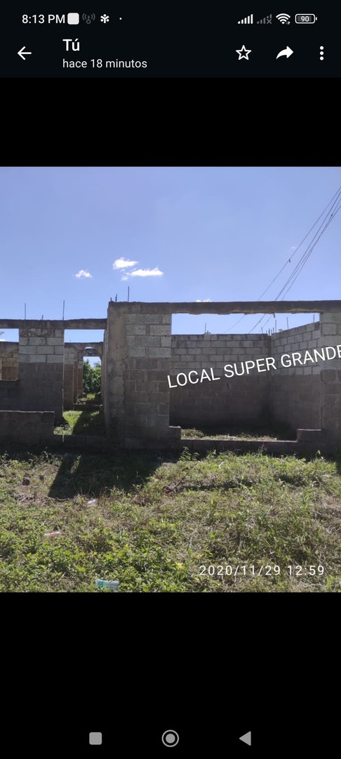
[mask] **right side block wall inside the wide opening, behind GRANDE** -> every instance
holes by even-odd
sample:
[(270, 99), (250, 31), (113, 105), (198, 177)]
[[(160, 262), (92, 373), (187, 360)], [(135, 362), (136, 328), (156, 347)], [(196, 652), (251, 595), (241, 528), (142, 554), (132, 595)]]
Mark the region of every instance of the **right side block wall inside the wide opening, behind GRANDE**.
[[(269, 384), (269, 413), (271, 423), (288, 425), (293, 433), (297, 429), (321, 428), (321, 366), (323, 361), (301, 366), (282, 367), (283, 354), (313, 351), (321, 348), (320, 323), (310, 323), (293, 329), (283, 329), (271, 335), (271, 355), (276, 370), (271, 370)], [(329, 345), (323, 343), (323, 345)], [(312, 353), (314, 357), (314, 353)], [(303, 361), (303, 358), (302, 358)], [(288, 361), (289, 363), (289, 361)]]

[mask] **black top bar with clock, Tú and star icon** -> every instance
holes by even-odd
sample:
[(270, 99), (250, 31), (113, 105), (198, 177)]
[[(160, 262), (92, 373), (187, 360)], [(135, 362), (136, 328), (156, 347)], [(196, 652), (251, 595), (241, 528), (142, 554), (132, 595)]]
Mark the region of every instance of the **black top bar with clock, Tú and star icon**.
[[(321, 7), (321, 6), (320, 6)], [(6, 8), (2, 77), (339, 77), (339, 8)], [(52, 10), (54, 10), (52, 8)], [(64, 11), (64, 12), (62, 12)], [(77, 12), (74, 12), (77, 11)], [(107, 11), (102, 13), (101, 11)]]

